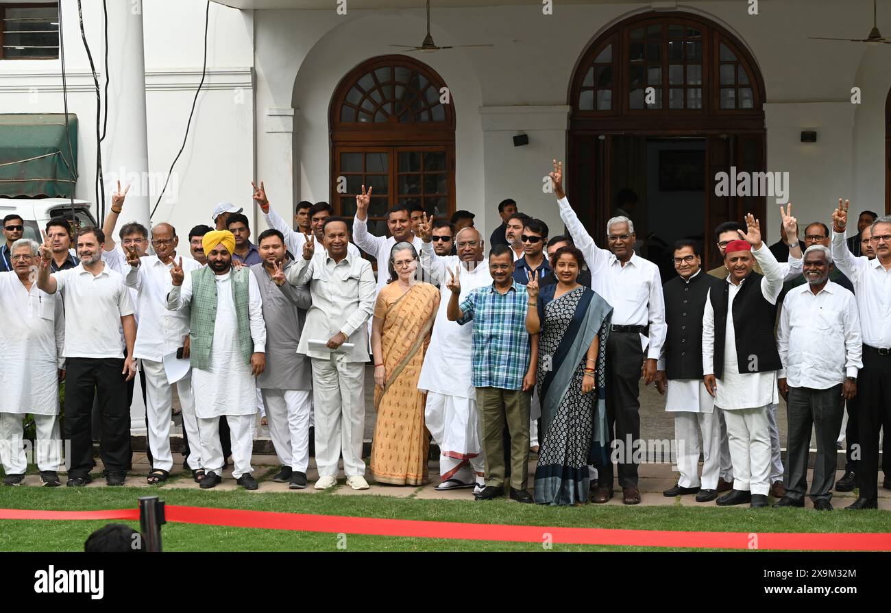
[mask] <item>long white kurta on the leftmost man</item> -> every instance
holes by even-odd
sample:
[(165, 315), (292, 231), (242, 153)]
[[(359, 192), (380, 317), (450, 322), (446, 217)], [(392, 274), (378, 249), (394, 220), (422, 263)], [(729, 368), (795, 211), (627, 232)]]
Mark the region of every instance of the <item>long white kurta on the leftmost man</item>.
[(0, 273), (0, 413), (59, 414), (58, 370), (65, 367), (61, 297), (30, 290)]

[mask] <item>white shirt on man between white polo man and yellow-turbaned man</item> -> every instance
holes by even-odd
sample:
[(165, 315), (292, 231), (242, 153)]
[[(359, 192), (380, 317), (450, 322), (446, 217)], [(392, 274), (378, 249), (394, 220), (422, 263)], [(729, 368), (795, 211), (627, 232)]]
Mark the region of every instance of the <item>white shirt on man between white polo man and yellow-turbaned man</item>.
[[(139, 260), (142, 264), (130, 266), (124, 279), (128, 288), (136, 290), (136, 307), (142, 315), (133, 355), (161, 362), (164, 356), (176, 353), (176, 349), (183, 347), (189, 334), (189, 309), (170, 311), (167, 307), (167, 295), (173, 289), (170, 276), (173, 261), (164, 264), (158, 256), (143, 256)], [(193, 259), (183, 259), (185, 274), (200, 267)]]

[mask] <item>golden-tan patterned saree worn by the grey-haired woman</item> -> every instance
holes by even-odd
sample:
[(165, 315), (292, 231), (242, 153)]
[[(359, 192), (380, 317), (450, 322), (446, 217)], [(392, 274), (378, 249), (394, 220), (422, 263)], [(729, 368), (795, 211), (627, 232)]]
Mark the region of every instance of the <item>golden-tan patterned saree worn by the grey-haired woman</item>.
[(374, 315), (383, 320), (380, 347), (387, 382), (382, 389), (374, 388), (378, 415), (370, 467), (380, 483), (427, 483), (427, 395), (418, 390), (418, 378), (438, 307), (439, 290), (429, 283), (413, 285), (402, 296), (395, 284), (380, 290)]

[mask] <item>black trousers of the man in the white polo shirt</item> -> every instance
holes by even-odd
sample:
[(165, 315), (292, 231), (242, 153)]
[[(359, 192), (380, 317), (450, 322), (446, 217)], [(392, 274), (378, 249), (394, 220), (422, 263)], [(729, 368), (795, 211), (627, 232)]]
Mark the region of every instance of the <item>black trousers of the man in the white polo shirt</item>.
[(130, 405), (127, 403), (123, 358), (69, 357), (65, 372), (65, 437), (71, 441), (69, 478), (93, 470), (92, 410), (99, 400), (102, 439), (99, 445), (106, 471), (130, 470)]

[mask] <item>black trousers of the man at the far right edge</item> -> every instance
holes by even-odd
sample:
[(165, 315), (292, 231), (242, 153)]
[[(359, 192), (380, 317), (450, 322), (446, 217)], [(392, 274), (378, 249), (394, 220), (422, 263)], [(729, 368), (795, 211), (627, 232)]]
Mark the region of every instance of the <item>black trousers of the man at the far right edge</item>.
[(879, 356), (875, 349), (863, 346), (857, 396), (860, 396), (857, 486), (861, 498), (876, 500), (879, 496), (879, 429), (885, 429), (886, 439), (891, 431), (891, 356)]

